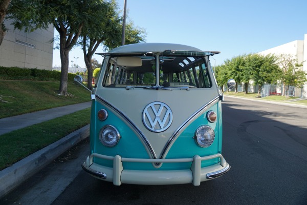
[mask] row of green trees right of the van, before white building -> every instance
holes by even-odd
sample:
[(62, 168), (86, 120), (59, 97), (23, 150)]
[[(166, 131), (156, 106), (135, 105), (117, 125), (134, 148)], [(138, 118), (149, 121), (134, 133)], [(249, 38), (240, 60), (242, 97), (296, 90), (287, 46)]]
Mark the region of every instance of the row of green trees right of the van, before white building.
[[(281, 81), (284, 89), (289, 86), (302, 87), (307, 81), (306, 73), (299, 68), (297, 59), (289, 54), (279, 56), (268, 54), (248, 54), (233, 57), (224, 61), (222, 66), (216, 67), (216, 80), (219, 86), (225, 85), (227, 79), (233, 78), (237, 84), (244, 83), (245, 93), (248, 92), (248, 84), (252, 81), (254, 85), (261, 87), (265, 84), (275, 84)], [(284, 94), (284, 91), (282, 92)]]

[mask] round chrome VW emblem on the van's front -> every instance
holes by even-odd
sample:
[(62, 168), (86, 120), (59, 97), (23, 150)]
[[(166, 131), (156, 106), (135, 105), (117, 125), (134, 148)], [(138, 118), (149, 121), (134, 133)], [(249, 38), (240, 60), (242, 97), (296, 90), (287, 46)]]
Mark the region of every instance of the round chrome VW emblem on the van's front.
[(151, 132), (163, 132), (171, 125), (172, 112), (166, 104), (153, 102), (145, 107), (142, 120), (144, 126)]

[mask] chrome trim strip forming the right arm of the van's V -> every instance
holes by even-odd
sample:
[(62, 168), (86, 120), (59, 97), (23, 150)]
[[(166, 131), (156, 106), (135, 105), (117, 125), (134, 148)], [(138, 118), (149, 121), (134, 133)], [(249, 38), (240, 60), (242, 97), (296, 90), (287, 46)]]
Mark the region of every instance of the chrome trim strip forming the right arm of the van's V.
[(215, 103), (218, 102), (218, 100), (220, 99), (220, 96), (216, 96), (213, 100), (211, 100), (209, 103), (207, 103), (206, 105), (204, 105), (203, 107), (201, 107), (198, 111), (196, 111), (195, 113), (193, 113), (186, 121), (183, 122), (183, 124), (171, 135), (171, 137), (169, 138), (169, 140), (167, 141), (162, 154), (160, 155), (160, 159), (164, 158), (164, 155), (166, 153), (166, 150), (168, 149), (168, 147), (170, 146), (171, 142), (176, 139), (178, 137), (178, 134), (189, 124), (190, 121), (194, 120), (200, 113), (202, 113), (204, 110), (208, 109), (209, 107), (211, 107), (212, 105), (214, 105)]

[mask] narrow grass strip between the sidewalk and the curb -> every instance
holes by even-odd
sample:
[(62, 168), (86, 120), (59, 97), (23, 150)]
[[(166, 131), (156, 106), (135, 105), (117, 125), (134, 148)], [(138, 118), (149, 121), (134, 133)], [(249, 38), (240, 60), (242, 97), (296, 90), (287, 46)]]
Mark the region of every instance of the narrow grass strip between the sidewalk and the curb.
[(0, 170), (90, 124), (91, 108), (0, 135)]

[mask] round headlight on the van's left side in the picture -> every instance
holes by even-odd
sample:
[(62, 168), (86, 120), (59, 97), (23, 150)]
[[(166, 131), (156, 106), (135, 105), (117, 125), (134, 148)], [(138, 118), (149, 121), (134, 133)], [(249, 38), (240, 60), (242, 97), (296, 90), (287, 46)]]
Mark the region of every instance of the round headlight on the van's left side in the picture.
[(119, 132), (111, 125), (106, 125), (99, 132), (99, 140), (105, 147), (114, 147), (120, 139)]

